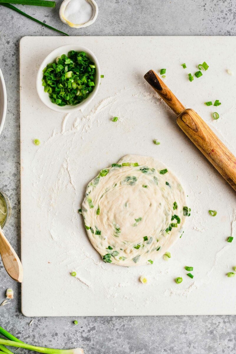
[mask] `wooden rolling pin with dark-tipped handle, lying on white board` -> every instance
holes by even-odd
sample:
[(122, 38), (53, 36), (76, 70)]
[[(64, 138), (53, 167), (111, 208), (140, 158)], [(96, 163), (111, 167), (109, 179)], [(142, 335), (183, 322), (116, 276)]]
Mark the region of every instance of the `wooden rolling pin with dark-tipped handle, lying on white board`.
[(225, 180), (236, 190), (236, 158), (220, 141), (204, 120), (193, 110), (185, 109), (159, 76), (149, 70), (144, 79), (177, 115), (177, 124), (206, 156)]

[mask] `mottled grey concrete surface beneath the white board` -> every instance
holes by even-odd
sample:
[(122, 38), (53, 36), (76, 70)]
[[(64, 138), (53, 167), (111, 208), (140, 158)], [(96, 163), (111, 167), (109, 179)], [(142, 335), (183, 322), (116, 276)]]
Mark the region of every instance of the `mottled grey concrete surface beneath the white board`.
[[(70, 35), (236, 35), (236, 0), (97, 0), (99, 15), (87, 28), (61, 23), (55, 9), (16, 5)], [(12, 218), (6, 235), (20, 252), (19, 40), (56, 32), (0, 5), (0, 68), (8, 107), (0, 136), (0, 188), (11, 199)], [(217, 48), (216, 48), (217, 54)], [(236, 316), (31, 318), (20, 312), (20, 286), (0, 262), (0, 302), (12, 286), (15, 297), (0, 308), (0, 325), (23, 341), (56, 348), (82, 347), (100, 353), (236, 353)], [(48, 299), (52, 301), (52, 299)], [(70, 299), (68, 299), (70, 301)], [(229, 294), (235, 301), (235, 294)], [(13, 350), (14, 351), (14, 350)], [(19, 350), (18, 353), (26, 350)]]

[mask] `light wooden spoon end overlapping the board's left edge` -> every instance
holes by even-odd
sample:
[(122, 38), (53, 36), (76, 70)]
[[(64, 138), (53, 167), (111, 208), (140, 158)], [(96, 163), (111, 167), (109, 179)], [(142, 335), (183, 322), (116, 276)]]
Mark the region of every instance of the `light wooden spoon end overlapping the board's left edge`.
[(13, 250), (10, 243), (7, 241), (6, 236), (2, 232), (0, 225), (0, 255), (2, 257), (2, 263), (10, 275), (10, 277), (20, 283), (23, 280), (23, 267), (17, 256), (16, 252)]

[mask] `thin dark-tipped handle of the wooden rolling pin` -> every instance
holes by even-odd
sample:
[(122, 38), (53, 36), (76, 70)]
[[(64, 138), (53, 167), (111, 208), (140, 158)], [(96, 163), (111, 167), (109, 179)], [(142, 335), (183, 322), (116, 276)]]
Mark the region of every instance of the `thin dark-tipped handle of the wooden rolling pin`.
[(144, 79), (161, 96), (161, 98), (163, 98), (165, 103), (169, 105), (176, 115), (179, 115), (184, 111), (185, 107), (183, 104), (179, 102), (178, 98), (175, 97), (173, 92), (171, 92), (153, 70), (149, 70), (147, 74), (144, 75)]

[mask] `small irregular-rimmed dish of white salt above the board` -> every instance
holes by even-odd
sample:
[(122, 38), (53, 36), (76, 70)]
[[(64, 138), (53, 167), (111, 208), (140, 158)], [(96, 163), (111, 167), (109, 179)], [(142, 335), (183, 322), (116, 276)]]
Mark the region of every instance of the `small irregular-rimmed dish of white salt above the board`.
[(59, 16), (62, 22), (73, 28), (82, 28), (94, 23), (98, 16), (98, 5), (94, 0), (64, 0)]

